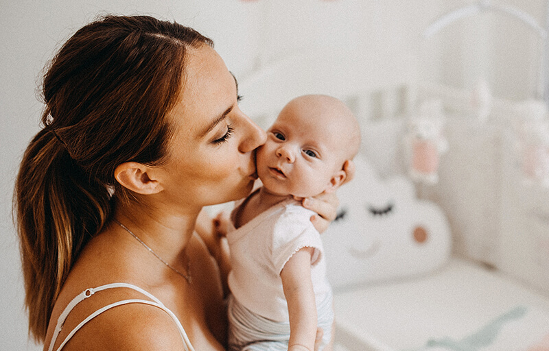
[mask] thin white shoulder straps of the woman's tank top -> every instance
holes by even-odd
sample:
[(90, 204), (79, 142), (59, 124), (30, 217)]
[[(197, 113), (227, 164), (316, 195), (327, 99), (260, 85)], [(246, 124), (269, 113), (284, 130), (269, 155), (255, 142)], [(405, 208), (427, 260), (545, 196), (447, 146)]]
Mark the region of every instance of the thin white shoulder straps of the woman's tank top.
[(136, 303), (137, 304), (148, 304), (148, 305), (151, 305), (151, 306), (156, 306), (156, 307), (160, 308), (161, 310), (165, 311), (165, 313), (167, 313), (168, 315), (170, 315), (170, 317), (172, 317), (172, 319), (174, 319), (174, 322), (177, 325), (177, 328), (179, 330), (181, 338), (183, 339), (183, 344), (185, 346), (185, 351), (194, 351), (194, 348), (191, 346), (191, 341), (189, 341), (189, 338), (187, 337), (187, 333), (185, 332), (185, 329), (183, 329), (183, 326), (181, 325), (181, 322), (179, 322), (179, 319), (177, 319), (176, 315), (174, 315), (174, 313), (172, 311), (170, 311), (170, 309), (168, 309), (166, 306), (164, 306), (164, 304), (162, 302), (160, 302), (159, 299), (155, 298), (152, 294), (148, 293), (147, 291), (141, 289), (140, 287), (136, 287), (135, 285), (127, 284), (127, 283), (124, 283), (124, 282), (115, 282), (113, 284), (102, 285), (101, 287), (86, 289), (86, 290), (82, 291), (82, 293), (78, 294), (75, 298), (73, 298), (73, 300), (71, 302), (69, 302), (69, 304), (67, 305), (67, 307), (65, 307), (65, 310), (63, 310), (63, 312), (59, 316), (59, 319), (57, 320), (57, 325), (56, 325), (56, 328), (54, 330), (54, 335), (53, 335), (53, 337), (51, 337), (51, 341), (49, 342), (48, 351), (53, 351), (54, 350), (54, 345), (56, 343), (57, 337), (59, 336), (59, 333), (61, 332), (61, 329), (63, 328), (63, 324), (65, 323), (65, 319), (67, 319), (67, 316), (69, 315), (69, 313), (72, 311), (72, 309), (76, 305), (78, 305), (80, 302), (86, 300), (86, 298), (91, 297), (91, 295), (93, 295), (94, 293), (97, 293), (97, 291), (102, 291), (102, 290), (106, 290), (106, 289), (113, 289), (113, 288), (134, 289), (135, 291), (139, 291), (143, 295), (147, 296), (152, 301), (150, 301), (150, 300), (141, 300), (141, 299), (121, 300), (121, 301), (113, 302), (112, 304), (108, 304), (107, 306), (104, 306), (104, 307), (100, 308), (99, 310), (95, 311), (94, 313), (92, 313), (91, 315), (86, 317), (86, 319), (84, 319), (82, 322), (80, 322), (80, 324), (78, 324), (78, 326), (76, 326), (73, 330), (71, 330), (71, 332), (69, 332), (69, 335), (67, 335), (65, 340), (63, 340), (63, 342), (60, 344), (60, 346), (56, 349), (57, 351), (60, 351), (65, 346), (65, 344), (71, 339), (71, 337), (73, 337), (73, 335), (75, 335), (75, 333), (80, 328), (82, 328), (82, 326), (84, 326), (84, 324), (91, 321), (91, 319), (93, 319), (94, 317), (97, 317), (97, 315), (100, 315), (101, 313), (107, 311), (108, 309), (116, 307), (116, 306), (120, 306), (120, 305), (123, 305), (123, 304), (136, 304)]

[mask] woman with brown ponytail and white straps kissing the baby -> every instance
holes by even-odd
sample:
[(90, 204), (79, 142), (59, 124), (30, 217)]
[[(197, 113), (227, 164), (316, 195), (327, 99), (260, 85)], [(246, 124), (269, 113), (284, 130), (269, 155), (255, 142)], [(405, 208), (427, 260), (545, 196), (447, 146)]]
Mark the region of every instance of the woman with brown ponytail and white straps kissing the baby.
[[(63, 45), (43, 95), (16, 183), (31, 335), (45, 350), (223, 350), (220, 272), (194, 227), (202, 206), (248, 195), (265, 133), (211, 40), (107, 16)], [(333, 219), (331, 200), (309, 208)]]

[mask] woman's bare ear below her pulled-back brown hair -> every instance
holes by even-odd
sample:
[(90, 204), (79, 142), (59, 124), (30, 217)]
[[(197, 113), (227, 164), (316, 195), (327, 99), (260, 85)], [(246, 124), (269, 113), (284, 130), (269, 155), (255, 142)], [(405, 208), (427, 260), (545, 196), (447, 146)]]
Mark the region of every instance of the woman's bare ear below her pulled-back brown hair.
[(115, 178), (134, 193), (149, 195), (160, 193), (163, 188), (158, 180), (149, 176), (149, 167), (138, 162), (124, 162), (115, 169)]

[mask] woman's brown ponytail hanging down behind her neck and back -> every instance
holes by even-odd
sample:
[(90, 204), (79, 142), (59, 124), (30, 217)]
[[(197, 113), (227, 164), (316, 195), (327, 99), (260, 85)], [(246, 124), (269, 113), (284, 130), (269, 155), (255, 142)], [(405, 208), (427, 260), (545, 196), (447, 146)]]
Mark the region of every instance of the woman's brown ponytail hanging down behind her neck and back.
[(42, 339), (69, 270), (108, 219), (110, 196), (42, 130), (23, 156), (15, 197), (29, 328)]

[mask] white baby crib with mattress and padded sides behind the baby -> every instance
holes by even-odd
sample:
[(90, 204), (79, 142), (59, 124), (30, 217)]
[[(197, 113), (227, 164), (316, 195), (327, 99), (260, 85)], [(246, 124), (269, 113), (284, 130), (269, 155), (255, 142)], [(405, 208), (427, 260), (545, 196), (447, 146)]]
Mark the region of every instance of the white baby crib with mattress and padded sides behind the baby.
[[(362, 165), (354, 185), (340, 189), (342, 207), (363, 204), (360, 196), (371, 191), (383, 206), (383, 197), (397, 189), (395, 207), (406, 194), (401, 207), (424, 209), (417, 217), (402, 215), (406, 226), (373, 224), (382, 234), (387, 228), (401, 233), (419, 228), (412, 222), (421, 219), (430, 237), (419, 248), (410, 233), (373, 243), (373, 222), (366, 226), (360, 217), (343, 229), (333, 223), (323, 234), (335, 291), (335, 350), (549, 350), (549, 191), (522, 183), (508, 128), (529, 105), (494, 100), (491, 113), (501, 118), (471, 125), (464, 120), (476, 112), (474, 92), (423, 84), (407, 74), (375, 82), (348, 69), (341, 58), (301, 53), (239, 82), (242, 110), (263, 128), (290, 99), (307, 93), (333, 95), (354, 110)], [(445, 128), (449, 151), (432, 186), (410, 180), (403, 150), (406, 116), (420, 97), (442, 99), (453, 114)], [(471, 150), (475, 157), (468, 157)], [(381, 190), (361, 188), (372, 180)], [(351, 195), (344, 194), (348, 186)], [(397, 251), (376, 247), (384, 240)], [(367, 256), (362, 263), (349, 255), (349, 246), (360, 245)]]

